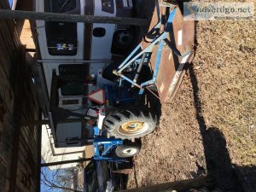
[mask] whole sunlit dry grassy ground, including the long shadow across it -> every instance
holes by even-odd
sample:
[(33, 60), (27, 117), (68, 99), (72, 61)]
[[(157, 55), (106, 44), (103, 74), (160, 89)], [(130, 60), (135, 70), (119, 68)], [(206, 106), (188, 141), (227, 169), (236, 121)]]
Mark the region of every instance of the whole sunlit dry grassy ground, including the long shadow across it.
[(193, 64), (143, 137), (128, 188), (210, 175), (224, 191), (256, 191), (255, 29), (255, 20), (196, 23)]

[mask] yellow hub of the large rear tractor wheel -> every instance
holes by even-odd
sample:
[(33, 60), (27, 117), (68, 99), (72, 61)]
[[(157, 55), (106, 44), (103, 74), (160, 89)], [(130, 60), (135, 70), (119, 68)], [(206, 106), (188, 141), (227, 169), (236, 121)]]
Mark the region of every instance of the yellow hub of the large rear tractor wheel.
[(135, 134), (143, 130), (144, 123), (141, 121), (130, 121), (119, 126), (119, 132), (127, 135)]

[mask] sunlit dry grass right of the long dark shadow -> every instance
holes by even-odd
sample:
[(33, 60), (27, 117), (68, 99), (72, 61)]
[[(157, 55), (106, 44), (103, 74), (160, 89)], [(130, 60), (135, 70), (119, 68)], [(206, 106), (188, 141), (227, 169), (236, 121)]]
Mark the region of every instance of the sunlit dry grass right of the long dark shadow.
[(255, 21), (200, 21), (196, 76), (207, 127), (218, 127), (232, 163), (256, 165)]

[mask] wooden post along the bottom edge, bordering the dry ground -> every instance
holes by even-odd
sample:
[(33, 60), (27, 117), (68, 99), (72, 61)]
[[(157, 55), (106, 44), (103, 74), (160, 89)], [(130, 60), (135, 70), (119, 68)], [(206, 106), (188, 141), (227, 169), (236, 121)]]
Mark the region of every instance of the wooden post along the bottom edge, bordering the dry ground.
[(197, 189), (200, 187), (212, 187), (211, 177), (197, 177), (193, 179), (176, 181), (171, 183), (160, 183), (153, 186), (142, 187), (137, 189), (127, 189), (120, 192), (166, 192), (166, 191), (186, 191), (188, 189)]

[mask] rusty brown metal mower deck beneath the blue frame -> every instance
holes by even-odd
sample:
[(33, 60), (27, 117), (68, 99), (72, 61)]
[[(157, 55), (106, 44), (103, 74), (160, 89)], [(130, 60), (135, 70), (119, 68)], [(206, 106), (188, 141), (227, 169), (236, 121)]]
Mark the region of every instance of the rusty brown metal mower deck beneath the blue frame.
[[(162, 15), (168, 15), (168, 12), (170, 12), (170, 10), (166, 8), (161, 9), (161, 11), (163, 11)], [(158, 20), (157, 10), (154, 9), (149, 29), (152, 29)], [(195, 21), (183, 20), (182, 12), (178, 7), (173, 20), (172, 31), (168, 34), (167, 39), (172, 46), (176, 47), (176, 51), (170, 49), (170, 44), (165, 44), (162, 49), (159, 73), (155, 84), (161, 103), (171, 102), (182, 82), (185, 65), (181, 63), (182, 58), (180, 55), (185, 55), (186, 53), (191, 52), (191, 55), (189, 55), (189, 58), (186, 61), (187, 63), (190, 63), (194, 56)], [(143, 48), (147, 45), (148, 43), (144, 41)], [(151, 68), (154, 68), (156, 50), (157, 47), (154, 48), (151, 55)]]

